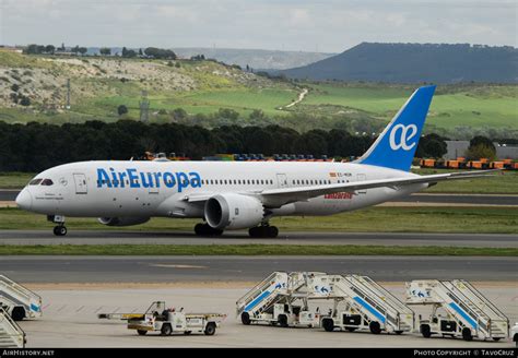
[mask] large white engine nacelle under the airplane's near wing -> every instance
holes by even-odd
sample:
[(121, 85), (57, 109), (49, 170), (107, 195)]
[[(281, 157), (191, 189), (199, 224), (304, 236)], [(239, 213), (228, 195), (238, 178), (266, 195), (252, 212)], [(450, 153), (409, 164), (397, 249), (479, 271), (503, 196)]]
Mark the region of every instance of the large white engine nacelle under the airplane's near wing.
[(245, 229), (262, 222), (264, 207), (252, 196), (224, 193), (205, 202), (204, 214), (207, 223), (215, 229)]

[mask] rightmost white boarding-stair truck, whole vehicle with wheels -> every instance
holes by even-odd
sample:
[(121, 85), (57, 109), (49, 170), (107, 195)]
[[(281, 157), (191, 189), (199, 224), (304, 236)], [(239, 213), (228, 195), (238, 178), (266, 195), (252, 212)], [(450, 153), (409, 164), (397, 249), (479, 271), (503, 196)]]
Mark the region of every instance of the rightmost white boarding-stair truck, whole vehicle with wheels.
[(464, 341), (507, 338), (509, 320), (469, 282), (412, 281), (407, 283), (407, 305), (431, 305), (429, 318), (420, 318), (420, 332), (462, 337)]

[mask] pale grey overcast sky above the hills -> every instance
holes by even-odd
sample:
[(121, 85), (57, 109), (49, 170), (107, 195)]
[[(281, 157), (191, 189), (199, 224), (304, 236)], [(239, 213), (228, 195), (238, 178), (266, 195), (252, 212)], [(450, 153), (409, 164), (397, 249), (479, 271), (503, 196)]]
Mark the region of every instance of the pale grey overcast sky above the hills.
[(342, 52), (362, 41), (518, 47), (516, 0), (0, 0), (0, 44)]

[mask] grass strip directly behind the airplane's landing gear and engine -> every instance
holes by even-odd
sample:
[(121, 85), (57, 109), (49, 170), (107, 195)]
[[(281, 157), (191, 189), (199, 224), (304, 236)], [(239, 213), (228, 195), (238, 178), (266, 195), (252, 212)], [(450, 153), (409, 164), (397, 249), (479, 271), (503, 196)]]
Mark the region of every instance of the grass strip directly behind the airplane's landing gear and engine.
[[(67, 218), (69, 230), (192, 231), (199, 219), (152, 218), (130, 227), (109, 227), (95, 218)], [(281, 231), (341, 232), (484, 232), (518, 234), (515, 207), (370, 207), (320, 217), (276, 217), (272, 225)], [(48, 229), (52, 223), (44, 215), (17, 208), (0, 208), (0, 229)]]

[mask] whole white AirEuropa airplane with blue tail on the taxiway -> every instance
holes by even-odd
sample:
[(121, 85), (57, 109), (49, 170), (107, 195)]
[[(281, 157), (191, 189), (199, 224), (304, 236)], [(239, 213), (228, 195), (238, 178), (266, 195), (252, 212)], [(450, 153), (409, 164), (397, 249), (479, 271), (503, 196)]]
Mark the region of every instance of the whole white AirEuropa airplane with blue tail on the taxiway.
[(45, 214), (54, 234), (64, 218), (97, 217), (130, 226), (151, 217), (200, 218), (199, 236), (248, 229), (279, 235), (275, 216), (332, 215), (409, 195), (439, 181), (490, 171), (420, 176), (410, 172), (435, 86), (411, 95), (374, 144), (351, 163), (92, 160), (38, 174), (20, 192), (17, 206)]

